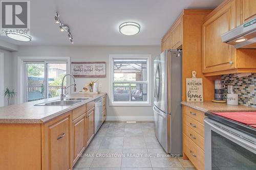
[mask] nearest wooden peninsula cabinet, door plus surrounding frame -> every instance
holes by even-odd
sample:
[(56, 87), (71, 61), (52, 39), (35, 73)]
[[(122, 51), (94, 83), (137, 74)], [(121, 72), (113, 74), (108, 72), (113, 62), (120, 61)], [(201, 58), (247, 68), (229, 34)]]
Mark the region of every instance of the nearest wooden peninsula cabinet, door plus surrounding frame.
[(71, 169), (71, 112), (44, 125), (42, 169)]

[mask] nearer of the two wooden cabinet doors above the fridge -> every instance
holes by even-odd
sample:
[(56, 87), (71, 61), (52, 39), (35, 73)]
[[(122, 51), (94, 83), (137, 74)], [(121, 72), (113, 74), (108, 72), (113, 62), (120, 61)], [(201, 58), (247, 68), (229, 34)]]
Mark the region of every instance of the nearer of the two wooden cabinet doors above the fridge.
[(176, 20), (173, 27), (170, 29), (172, 49), (182, 48), (182, 16), (183, 15)]

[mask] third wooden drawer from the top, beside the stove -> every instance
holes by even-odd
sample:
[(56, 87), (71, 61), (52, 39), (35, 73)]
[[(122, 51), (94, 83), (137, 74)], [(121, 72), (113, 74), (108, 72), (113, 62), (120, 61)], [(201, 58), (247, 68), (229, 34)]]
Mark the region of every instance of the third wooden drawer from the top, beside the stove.
[(197, 132), (184, 125), (184, 134), (194, 141), (204, 151), (204, 138)]

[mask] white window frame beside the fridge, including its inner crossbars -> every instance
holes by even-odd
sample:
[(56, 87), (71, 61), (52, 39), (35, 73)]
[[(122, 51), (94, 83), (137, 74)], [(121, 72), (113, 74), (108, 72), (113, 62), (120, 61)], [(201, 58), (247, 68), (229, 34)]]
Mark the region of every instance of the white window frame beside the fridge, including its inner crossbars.
[[(114, 81), (114, 59), (146, 59), (147, 60), (147, 81)], [(109, 106), (152, 106), (152, 63), (151, 63), (152, 55), (150, 54), (112, 54), (109, 55), (109, 72), (110, 72), (110, 85), (109, 85), (109, 96), (110, 102)], [(146, 101), (114, 101), (114, 83), (127, 83), (127, 84), (147, 84), (147, 100)], [(131, 99), (131, 90), (130, 90), (130, 99)]]

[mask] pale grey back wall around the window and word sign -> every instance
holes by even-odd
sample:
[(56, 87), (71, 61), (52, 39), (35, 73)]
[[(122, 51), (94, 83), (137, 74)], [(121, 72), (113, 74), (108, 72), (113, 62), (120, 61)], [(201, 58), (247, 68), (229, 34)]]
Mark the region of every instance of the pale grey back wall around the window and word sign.
[[(110, 54), (151, 54), (152, 61), (161, 52), (160, 46), (20, 46), (13, 52), (13, 87), (17, 89), (17, 57), (71, 57), (72, 61), (105, 61), (106, 78), (99, 78), (102, 92), (109, 92)], [(153, 69), (153, 62), (152, 62)], [(150, 75), (153, 76), (153, 75)], [(96, 79), (92, 79), (96, 80)], [(77, 89), (90, 81), (90, 78), (77, 78)], [(152, 90), (153, 91), (153, 90)], [(152, 94), (153, 96), (153, 94)], [(107, 104), (108, 105), (108, 104)], [(153, 120), (152, 106), (107, 107), (109, 120)]]

